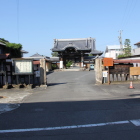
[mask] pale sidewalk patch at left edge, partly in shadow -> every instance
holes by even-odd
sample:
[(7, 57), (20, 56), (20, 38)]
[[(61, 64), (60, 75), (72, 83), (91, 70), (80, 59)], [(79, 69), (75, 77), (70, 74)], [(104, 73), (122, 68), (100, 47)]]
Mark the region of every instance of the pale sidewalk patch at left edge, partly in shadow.
[(22, 100), (31, 94), (32, 91), (27, 89), (0, 89), (0, 114), (18, 108)]

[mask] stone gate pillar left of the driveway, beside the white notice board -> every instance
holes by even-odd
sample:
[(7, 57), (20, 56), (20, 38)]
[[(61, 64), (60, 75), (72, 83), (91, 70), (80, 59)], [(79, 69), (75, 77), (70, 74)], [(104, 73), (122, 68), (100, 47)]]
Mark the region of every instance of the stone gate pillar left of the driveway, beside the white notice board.
[(40, 85), (47, 87), (46, 60), (40, 59)]

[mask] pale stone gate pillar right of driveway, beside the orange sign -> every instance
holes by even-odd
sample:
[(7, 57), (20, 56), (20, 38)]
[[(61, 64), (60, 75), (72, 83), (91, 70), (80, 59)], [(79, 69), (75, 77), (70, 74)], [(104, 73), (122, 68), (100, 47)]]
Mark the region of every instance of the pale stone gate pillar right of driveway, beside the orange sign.
[(102, 68), (103, 68), (103, 64), (102, 64), (102, 58), (97, 58), (95, 60), (95, 80), (96, 83), (98, 84), (102, 84)]

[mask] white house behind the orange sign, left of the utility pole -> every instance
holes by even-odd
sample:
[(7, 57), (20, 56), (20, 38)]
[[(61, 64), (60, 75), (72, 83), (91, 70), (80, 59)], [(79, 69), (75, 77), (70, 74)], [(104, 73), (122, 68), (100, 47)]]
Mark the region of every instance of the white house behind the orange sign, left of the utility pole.
[[(123, 46), (124, 48), (124, 46)], [(118, 55), (121, 54), (120, 45), (108, 45), (105, 50), (105, 57), (112, 57), (117, 59)]]

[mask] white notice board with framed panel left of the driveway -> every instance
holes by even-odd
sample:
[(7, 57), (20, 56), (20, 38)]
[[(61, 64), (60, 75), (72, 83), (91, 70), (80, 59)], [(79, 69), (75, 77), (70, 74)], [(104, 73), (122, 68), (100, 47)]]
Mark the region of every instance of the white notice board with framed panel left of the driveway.
[(32, 74), (33, 63), (32, 60), (14, 60), (15, 74)]

